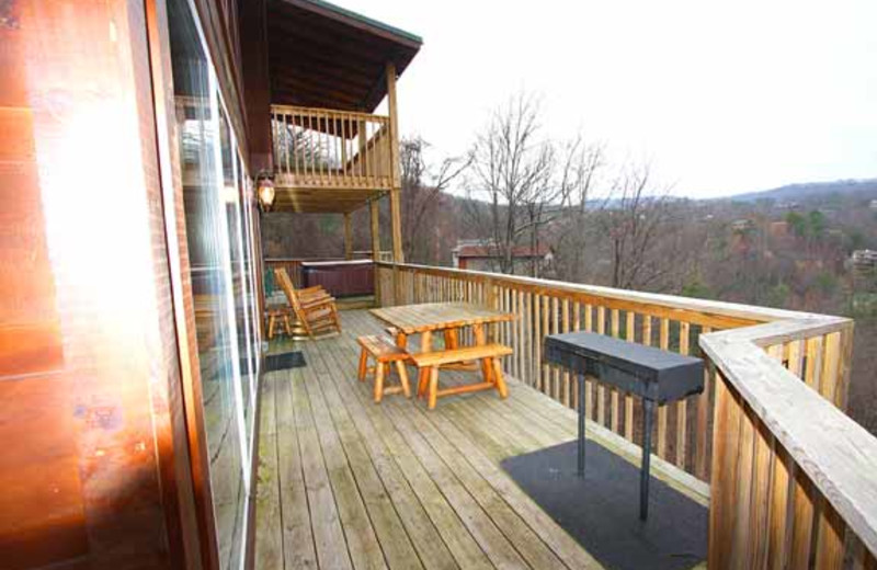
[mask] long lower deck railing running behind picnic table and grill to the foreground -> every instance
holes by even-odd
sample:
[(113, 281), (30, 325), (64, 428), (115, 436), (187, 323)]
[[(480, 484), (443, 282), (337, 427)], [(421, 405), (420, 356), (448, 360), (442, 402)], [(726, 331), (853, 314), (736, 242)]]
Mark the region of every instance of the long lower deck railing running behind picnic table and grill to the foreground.
[[(710, 482), (710, 568), (811, 555), (839, 568), (828, 562), (844, 545), (874, 562), (862, 545), (877, 551), (877, 438), (842, 412), (848, 319), (422, 265), (376, 270), (381, 305), (468, 300), (516, 312), (498, 332), (515, 351), (506, 372), (569, 407), (577, 386), (543, 363), (546, 334), (590, 330), (705, 357), (707, 389), (660, 407), (653, 441), (657, 455)], [(593, 379), (585, 389), (586, 417), (639, 444), (640, 402)]]

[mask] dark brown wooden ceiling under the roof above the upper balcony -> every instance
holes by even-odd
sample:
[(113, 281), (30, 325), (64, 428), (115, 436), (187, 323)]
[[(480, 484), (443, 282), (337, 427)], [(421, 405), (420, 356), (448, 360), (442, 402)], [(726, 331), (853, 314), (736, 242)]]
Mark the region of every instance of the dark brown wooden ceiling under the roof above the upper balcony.
[(388, 61), (401, 75), (421, 38), (320, 0), (267, 1), (272, 101), (372, 112), (387, 94)]

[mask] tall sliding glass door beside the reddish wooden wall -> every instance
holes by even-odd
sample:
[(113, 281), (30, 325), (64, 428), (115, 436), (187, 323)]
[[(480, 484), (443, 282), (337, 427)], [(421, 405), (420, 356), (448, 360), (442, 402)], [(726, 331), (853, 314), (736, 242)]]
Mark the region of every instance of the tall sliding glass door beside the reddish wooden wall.
[(204, 433), (223, 568), (243, 563), (260, 338), (252, 187), (186, 0), (169, 0)]

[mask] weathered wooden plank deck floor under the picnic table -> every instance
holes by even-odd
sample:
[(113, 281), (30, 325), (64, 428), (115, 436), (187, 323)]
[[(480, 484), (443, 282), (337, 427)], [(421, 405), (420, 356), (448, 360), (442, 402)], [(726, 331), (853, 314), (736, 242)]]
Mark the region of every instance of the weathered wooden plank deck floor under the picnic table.
[[(296, 345), (306, 367), (264, 378), (257, 568), (601, 568), (499, 465), (573, 438), (574, 411), (513, 378), (508, 400), (375, 404), (371, 384), (356, 381), (355, 337), (380, 324), (362, 310), (342, 321), (342, 335)], [(637, 463), (620, 436), (589, 430)], [(708, 501), (704, 483), (658, 458), (652, 475)]]

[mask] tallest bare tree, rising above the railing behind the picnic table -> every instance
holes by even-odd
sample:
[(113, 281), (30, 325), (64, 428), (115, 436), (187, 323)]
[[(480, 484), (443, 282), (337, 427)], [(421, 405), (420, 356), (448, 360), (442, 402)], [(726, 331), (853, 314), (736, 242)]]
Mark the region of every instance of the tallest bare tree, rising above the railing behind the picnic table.
[[(555, 146), (540, 135), (538, 102), (520, 93), (493, 112), (471, 151), (468, 221), (488, 236), (494, 269), (502, 273), (514, 272), (515, 248), (525, 240), (532, 254), (538, 252), (540, 231), (567, 202), (568, 186), (555, 180)], [(529, 271), (537, 275), (538, 263)]]

